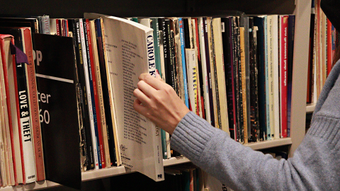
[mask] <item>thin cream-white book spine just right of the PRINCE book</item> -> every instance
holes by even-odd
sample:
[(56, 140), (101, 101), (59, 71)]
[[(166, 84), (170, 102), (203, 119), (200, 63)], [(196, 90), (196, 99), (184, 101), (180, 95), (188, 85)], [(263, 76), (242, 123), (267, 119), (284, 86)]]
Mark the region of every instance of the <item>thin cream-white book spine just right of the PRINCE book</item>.
[(209, 103), (209, 90), (208, 90), (208, 76), (207, 76), (207, 63), (206, 63), (206, 56), (205, 55), (205, 44), (204, 44), (204, 23), (203, 18), (198, 18), (198, 35), (200, 36), (200, 60), (202, 64), (202, 74), (203, 74), (203, 81), (200, 83), (204, 84), (203, 88), (203, 99), (204, 99), (204, 108), (205, 108), (205, 120), (211, 124), (211, 117), (210, 117), (210, 103)]

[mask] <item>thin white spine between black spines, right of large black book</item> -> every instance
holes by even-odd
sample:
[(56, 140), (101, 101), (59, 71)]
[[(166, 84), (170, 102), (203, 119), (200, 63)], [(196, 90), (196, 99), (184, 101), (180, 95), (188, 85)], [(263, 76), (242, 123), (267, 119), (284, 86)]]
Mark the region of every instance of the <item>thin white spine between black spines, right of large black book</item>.
[(93, 105), (91, 100), (91, 88), (89, 83), (89, 67), (87, 66), (87, 56), (86, 56), (86, 44), (85, 44), (85, 33), (84, 33), (84, 23), (82, 19), (79, 19), (79, 28), (80, 28), (80, 40), (81, 40), (81, 54), (83, 57), (83, 66), (84, 66), (84, 76), (85, 76), (85, 83), (86, 83), (86, 98), (89, 107), (89, 116), (90, 116), (90, 125), (91, 125), (91, 137), (92, 137), (92, 146), (94, 151), (94, 163), (95, 168), (99, 169), (101, 166), (101, 162), (99, 161), (99, 154), (98, 151), (98, 142), (96, 137), (96, 130), (94, 126), (94, 112), (93, 112)]

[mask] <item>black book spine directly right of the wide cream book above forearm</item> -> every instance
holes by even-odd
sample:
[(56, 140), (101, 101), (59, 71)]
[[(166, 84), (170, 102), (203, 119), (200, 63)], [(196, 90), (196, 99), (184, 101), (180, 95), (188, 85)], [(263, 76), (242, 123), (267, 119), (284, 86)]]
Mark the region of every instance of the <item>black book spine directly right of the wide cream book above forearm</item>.
[(221, 18), (225, 25), (225, 32), (222, 33), (223, 57), (225, 61), (225, 84), (227, 86), (228, 122), (230, 137), (235, 139), (235, 104), (234, 104), (234, 74), (233, 74), (233, 55), (232, 55), (232, 26), (231, 18)]

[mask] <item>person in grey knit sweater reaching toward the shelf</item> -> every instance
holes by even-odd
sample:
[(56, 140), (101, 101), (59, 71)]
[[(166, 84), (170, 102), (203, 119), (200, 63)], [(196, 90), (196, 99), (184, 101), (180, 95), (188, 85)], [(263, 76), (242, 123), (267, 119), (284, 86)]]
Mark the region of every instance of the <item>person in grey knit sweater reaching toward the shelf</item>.
[[(326, 14), (327, 7), (340, 10), (340, 2), (334, 0), (322, 4)], [(337, 14), (327, 16), (339, 22)], [(340, 190), (339, 74), (340, 60), (324, 84), (310, 129), (288, 160), (253, 151), (212, 127), (188, 110), (159, 76), (140, 75), (133, 106), (172, 135), (172, 148), (233, 190)]]

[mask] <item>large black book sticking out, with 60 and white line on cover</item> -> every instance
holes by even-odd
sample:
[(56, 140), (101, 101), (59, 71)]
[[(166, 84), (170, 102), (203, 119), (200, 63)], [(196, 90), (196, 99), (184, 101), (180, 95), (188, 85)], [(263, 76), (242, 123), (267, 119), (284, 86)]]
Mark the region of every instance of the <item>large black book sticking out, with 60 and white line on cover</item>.
[[(79, 122), (72, 37), (34, 34), (38, 91), (49, 99), (39, 103), (48, 113), (41, 123), (47, 180), (80, 190)], [(47, 117), (47, 115), (46, 115)]]

